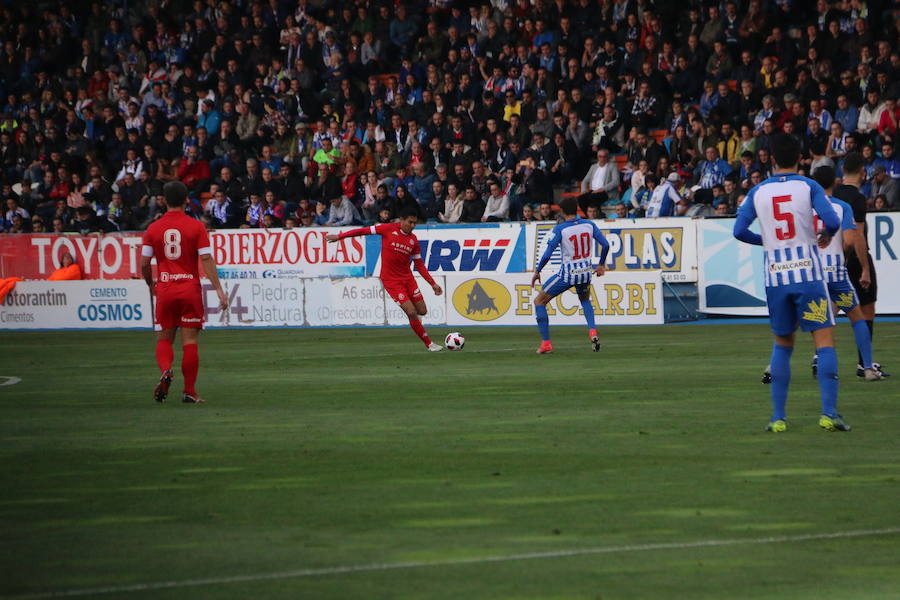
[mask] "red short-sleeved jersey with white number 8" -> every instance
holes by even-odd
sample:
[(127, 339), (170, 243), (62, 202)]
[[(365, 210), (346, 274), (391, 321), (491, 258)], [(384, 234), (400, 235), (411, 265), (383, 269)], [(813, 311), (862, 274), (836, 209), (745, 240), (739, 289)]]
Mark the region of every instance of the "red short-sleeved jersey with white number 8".
[(166, 212), (144, 233), (141, 254), (156, 257), (156, 290), (176, 286), (200, 286), (199, 259), (211, 254), (209, 235), (200, 221), (180, 210)]

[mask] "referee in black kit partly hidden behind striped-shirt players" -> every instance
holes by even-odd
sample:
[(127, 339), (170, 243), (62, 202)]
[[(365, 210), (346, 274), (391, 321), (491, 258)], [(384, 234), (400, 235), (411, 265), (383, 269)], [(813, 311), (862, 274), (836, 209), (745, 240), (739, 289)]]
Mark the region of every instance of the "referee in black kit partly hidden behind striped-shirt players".
[[(832, 195), (843, 200), (853, 209), (853, 221), (856, 224), (856, 228), (863, 232), (863, 238), (866, 240), (866, 248), (868, 249), (869, 231), (866, 227), (866, 197), (859, 191), (866, 173), (862, 155), (858, 152), (848, 154), (844, 158), (843, 173), (841, 185), (835, 186)], [(847, 258), (847, 274), (850, 276), (850, 281), (853, 283), (853, 287), (856, 288), (856, 294), (859, 296), (859, 308), (862, 310), (866, 325), (869, 326), (869, 333), (874, 338), (878, 278), (875, 274), (872, 255), (867, 250), (866, 256), (857, 256), (853, 248), (848, 248), (845, 256)], [(888, 376), (888, 373), (881, 370), (880, 364), (872, 363), (872, 367), (884, 377)], [(857, 377), (865, 376), (861, 355), (859, 363), (856, 365), (856, 375)]]

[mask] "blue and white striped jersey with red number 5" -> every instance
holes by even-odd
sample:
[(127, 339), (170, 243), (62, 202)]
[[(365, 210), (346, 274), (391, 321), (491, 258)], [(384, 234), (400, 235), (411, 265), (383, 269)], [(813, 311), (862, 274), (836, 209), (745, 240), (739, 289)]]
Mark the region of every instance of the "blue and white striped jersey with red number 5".
[(813, 209), (829, 231), (839, 228), (825, 190), (812, 179), (780, 173), (747, 194), (738, 210), (735, 237), (747, 241), (742, 235), (759, 219), (762, 235), (751, 243), (765, 250), (766, 287), (824, 280)]

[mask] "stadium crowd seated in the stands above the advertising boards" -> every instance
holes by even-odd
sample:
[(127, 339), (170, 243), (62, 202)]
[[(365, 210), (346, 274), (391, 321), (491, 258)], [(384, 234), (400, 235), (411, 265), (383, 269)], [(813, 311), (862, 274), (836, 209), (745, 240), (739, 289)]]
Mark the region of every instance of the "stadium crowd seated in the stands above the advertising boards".
[[(0, 230), (733, 214), (783, 131), (900, 207), (889, 0), (0, 8)], [(573, 187), (574, 186), (574, 187)], [(659, 212), (659, 211), (657, 211)], [(653, 213), (651, 212), (651, 215)], [(658, 216), (658, 215), (654, 215)]]

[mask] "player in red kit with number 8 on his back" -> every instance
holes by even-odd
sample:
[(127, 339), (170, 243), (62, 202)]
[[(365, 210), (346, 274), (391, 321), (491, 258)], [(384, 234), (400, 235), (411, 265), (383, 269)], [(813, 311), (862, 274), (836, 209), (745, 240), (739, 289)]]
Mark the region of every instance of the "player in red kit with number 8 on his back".
[[(197, 340), (203, 328), (203, 297), (198, 264), (219, 295), (219, 308), (228, 309), (228, 296), (222, 290), (216, 263), (212, 257), (209, 236), (203, 224), (184, 213), (187, 187), (170, 181), (163, 187), (166, 213), (147, 228), (141, 248), (141, 272), (150, 286), (151, 302), (155, 301), (156, 363), (162, 375), (153, 398), (163, 402), (172, 383), (172, 342), (175, 330), (181, 328), (181, 374), (184, 376), (182, 402), (199, 404), (203, 399), (194, 387), (200, 358)], [(157, 281), (153, 283), (150, 260), (156, 257)]]

